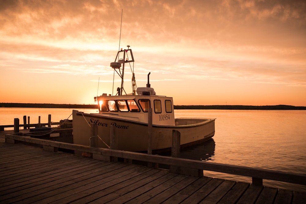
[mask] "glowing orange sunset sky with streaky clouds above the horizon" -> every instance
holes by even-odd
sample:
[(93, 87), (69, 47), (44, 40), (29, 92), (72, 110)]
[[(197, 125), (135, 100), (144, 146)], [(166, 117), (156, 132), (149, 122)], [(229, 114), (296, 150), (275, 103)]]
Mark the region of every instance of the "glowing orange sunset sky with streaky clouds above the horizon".
[(138, 87), (151, 72), (174, 105), (306, 106), (304, 0), (0, 0), (0, 102), (93, 104), (99, 78), (111, 94), (121, 9)]

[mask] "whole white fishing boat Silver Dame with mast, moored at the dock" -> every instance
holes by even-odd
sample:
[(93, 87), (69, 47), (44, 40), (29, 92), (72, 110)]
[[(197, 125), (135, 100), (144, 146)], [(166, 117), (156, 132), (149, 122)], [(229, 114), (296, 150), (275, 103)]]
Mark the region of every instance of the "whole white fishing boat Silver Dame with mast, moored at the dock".
[(133, 152), (148, 150), (149, 126), (152, 150), (155, 152), (170, 150), (172, 130), (180, 132), (181, 147), (195, 145), (213, 137), (215, 118), (174, 118), (173, 98), (156, 95), (149, 83), (150, 73), (146, 87), (137, 88), (132, 71), (132, 94), (125, 93), (125, 64), (134, 63), (129, 47), (124, 50), (121, 48), (115, 61), (110, 63), (121, 77), (121, 87), (117, 88), (116, 95), (103, 94), (94, 97), (99, 113), (73, 111), (73, 143), (91, 144), (91, 124), (98, 127), (97, 147), (110, 146), (110, 127), (114, 125), (118, 136), (118, 150)]

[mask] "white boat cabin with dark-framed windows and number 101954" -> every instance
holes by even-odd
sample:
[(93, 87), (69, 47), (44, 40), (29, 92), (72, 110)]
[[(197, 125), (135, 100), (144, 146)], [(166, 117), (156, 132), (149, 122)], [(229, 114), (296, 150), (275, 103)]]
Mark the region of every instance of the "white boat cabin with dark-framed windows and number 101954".
[(148, 123), (148, 111), (152, 108), (153, 125), (175, 125), (173, 98), (158, 96), (151, 87), (138, 87), (137, 95), (107, 95), (95, 97), (99, 114)]

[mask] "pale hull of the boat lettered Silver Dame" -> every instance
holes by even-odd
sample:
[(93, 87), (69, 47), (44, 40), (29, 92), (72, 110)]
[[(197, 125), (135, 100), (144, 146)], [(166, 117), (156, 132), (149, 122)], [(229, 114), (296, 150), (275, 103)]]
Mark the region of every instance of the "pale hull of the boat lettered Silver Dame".
[[(147, 151), (147, 123), (77, 111), (73, 111), (73, 143), (90, 146), (91, 124), (98, 127), (100, 139), (97, 139), (97, 147), (110, 146), (110, 127), (114, 125), (118, 137), (118, 150)], [(152, 150), (169, 150), (172, 147), (172, 130), (180, 132), (181, 147), (201, 143), (215, 134), (215, 119), (178, 118), (176, 124), (178, 125), (152, 125)]]

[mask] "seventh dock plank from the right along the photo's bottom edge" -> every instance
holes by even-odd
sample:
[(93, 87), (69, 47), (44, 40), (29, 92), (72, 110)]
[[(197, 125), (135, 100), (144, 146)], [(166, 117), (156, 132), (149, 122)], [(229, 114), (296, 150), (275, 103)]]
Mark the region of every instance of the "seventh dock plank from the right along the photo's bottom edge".
[(214, 178), (207, 182), (204, 186), (202, 186), (199, 190), (194, 192), (192, 195), (188, 196), (183, 202), (185, 204), (190, 203), (199, 203), (201, 202), (206, 196), (208, 196), (212, 191), (214, 191), (220, 184), (223, 183), (223, 179)]

